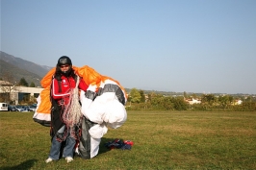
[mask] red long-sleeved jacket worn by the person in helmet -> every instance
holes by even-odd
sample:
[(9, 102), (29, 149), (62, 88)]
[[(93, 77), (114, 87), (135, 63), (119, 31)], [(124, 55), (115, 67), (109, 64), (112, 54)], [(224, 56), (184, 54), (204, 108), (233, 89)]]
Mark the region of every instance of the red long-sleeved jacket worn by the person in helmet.
[[(76, 82), (72, 77), (64, 77), (62, 76), (61, 88), (59, 86), (59, 82), (57, 79), (53, 79), (52, 82), (52, 97), (55, 100), (61, 100), (64, 98), (69, 98), (69, 92), (71, 88), (76, 86)], [(80, 79), (78, 88), (86, 91), (88, 86), (83, 79)]]

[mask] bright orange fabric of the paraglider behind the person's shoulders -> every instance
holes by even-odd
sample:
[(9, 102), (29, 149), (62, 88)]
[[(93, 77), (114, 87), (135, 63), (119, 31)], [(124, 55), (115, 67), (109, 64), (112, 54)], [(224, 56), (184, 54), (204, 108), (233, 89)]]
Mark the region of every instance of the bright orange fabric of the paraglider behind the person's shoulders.
[[(124, 91), (124, 95), (127, 99), (128, 95), (126, 94), (124, 88), (114, 79), (107, 77), (107, 76), (102, 76), (98, 72), (96, 72), (93, 68), (91, 68), (88, 65), (85, 65), (83, 67), (76, 67), (72, 66), (74, 69), (75, 73), (83, 77), (84, 81), (86, 82), (87, 85), (96, 85), (97, 89), (100, 85), (101, 82), (105, 82), (106, 80), (112, 80), (114, 81), (117, 85), (120, 86), (120, 88)], [(50, 114), (51, 113), (51, 99), (50, 99), (50, 90), (51, 90), (51, 83), (52, 83), (52, 78), (55, 73), (56, 68), (52, 68), (41, 80), (40, 84), (44, 88), (40, 92), (40, 105), (38, 107), (37, 112), (41, 113), (46, 113)], [(97, 90), (96, 89), (96, 90)]]

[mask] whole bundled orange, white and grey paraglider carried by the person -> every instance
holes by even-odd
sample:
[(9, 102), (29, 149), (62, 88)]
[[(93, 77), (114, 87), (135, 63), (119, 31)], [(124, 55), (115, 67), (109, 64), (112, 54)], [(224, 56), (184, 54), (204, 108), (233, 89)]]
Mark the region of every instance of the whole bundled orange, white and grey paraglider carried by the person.
[[(88, 65), (72, 66), (72, 68), (89, 85), (87, 91), (80, 91), (81, 112), (85, 120), (93, 122), (90, 127), (86, 127), (88, 123), (85, 123), (84, 127), (82, 126), (82, 129), (90, 134), (90, 139), (85, 142), (86, 138), (83, 138), (82, 135), (82, 140), (78, 145), (78, 154), (82, 158), (93, 158), (98, 153), (101, 137), (107, 134), (107, 127), (116, 129), (126, 121), (127, 113), (124, 105), (128, 95), (117, 81), (97, 73)], [(44, 89), (38, 96), (38, 107), (33, 116), (34, 121), (43, 126), (51, 125), (50, 90), (54, 73), (55, 68), (41, 80), (41, 86)], [(84, 134), (85, 136), (86, 134)], [(86, 146), (88, 143), (90, 146)], [(90, 148), (90, 151), (87, 151), (87, 148)]]

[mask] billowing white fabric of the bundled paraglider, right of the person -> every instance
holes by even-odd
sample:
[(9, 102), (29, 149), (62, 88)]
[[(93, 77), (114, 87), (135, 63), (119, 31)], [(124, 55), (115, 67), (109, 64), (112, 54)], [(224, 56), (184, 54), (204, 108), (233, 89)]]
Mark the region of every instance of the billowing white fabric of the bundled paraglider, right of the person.
[[(108, 82), (114, 84), (113, 81)], [(103, 87), (105, 84), (101, 84)], [(92, 89), (93, 90), (93, 89)], [(97, 123), (90, 128), (90, 158), (98, 154), (101, 137), (107, 134), (108, 127), (118, 128), (127, 119), (127, 113), (124, 106), (118, 101), (115, 92), (104, 92), (91, 101), (85, 96), (85, 92), (81, 93), (80, 100), (82, 103), (82, 113)]]

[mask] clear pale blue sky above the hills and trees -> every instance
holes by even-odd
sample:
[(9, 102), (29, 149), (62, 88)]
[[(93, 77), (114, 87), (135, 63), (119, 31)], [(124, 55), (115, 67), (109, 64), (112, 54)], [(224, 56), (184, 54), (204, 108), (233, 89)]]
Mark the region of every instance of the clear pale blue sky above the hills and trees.
[(1, 0), (1, 51), (127, 88), (256, 94), (255, 0)]

